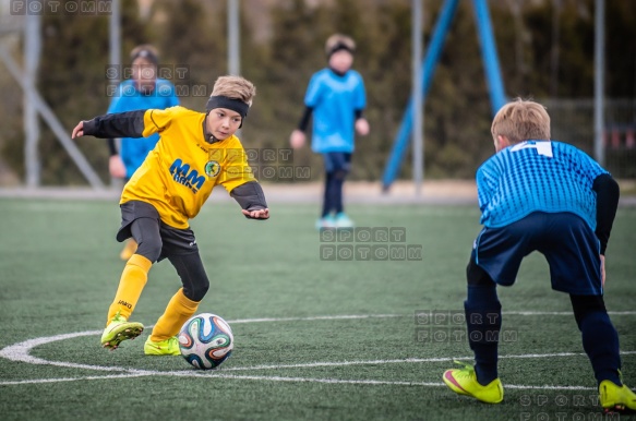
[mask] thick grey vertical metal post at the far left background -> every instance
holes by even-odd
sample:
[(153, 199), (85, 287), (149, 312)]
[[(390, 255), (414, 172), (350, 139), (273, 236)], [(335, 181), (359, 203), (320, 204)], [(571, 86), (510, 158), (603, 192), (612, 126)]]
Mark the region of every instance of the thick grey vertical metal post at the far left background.
[(39, 121), (35, 106), (35, 77), (41, 50), (39, 34), (40, 15), (27, 13), (24, 25), (24, 165), (26, 187), (35, 189), (40, 184), (40, 163), (38, 154)]

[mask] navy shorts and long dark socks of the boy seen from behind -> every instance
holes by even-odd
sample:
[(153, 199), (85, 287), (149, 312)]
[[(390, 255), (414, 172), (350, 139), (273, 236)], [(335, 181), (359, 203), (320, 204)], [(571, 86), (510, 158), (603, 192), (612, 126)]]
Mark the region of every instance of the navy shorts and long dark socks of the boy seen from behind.
[(497, 377), (502, 306), (496, 286), (513, 285), (523, 258), (533, 251), (550, 265), (552, 289), (569, 293), (597, 382), (621, 385), (619, 335), (603, 301), (599, 241), (578, 216), (541, 212), (506, 227), (484, 228), (475, 241), (464, 308), (478, 381), (487, 385)]

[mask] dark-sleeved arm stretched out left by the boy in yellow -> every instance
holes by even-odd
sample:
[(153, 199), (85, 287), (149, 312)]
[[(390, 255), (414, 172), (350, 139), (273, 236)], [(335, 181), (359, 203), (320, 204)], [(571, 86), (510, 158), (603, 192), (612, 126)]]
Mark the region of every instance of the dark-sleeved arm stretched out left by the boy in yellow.
[(145, 112), (146, 110), (116, 112), (80, 121), (71, 136), (143, 137)]

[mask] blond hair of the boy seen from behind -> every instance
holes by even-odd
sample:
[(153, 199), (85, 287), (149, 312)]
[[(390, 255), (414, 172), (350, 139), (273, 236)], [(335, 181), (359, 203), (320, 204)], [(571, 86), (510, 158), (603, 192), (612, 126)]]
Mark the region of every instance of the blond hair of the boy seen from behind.
[(541, 104), (515, 98), (494, 116), (490, 132), (495, 141), (497, 136), (506, 136), (511, 144), (549, 141), (550, 116)]

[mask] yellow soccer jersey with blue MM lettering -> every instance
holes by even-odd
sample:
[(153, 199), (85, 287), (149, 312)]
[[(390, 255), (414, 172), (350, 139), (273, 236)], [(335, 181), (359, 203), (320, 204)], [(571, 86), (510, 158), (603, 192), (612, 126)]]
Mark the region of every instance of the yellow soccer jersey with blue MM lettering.
[(204, 120), (205, 113), (179, 106), (146, 110), (143, 135), (158, 132), (160, 139), (125, 184), (120, 204), (147, 202), (165, 224), (184, 229), (215, 185), (229, 193), (255, 181), (239, 139), (206, 142)]

